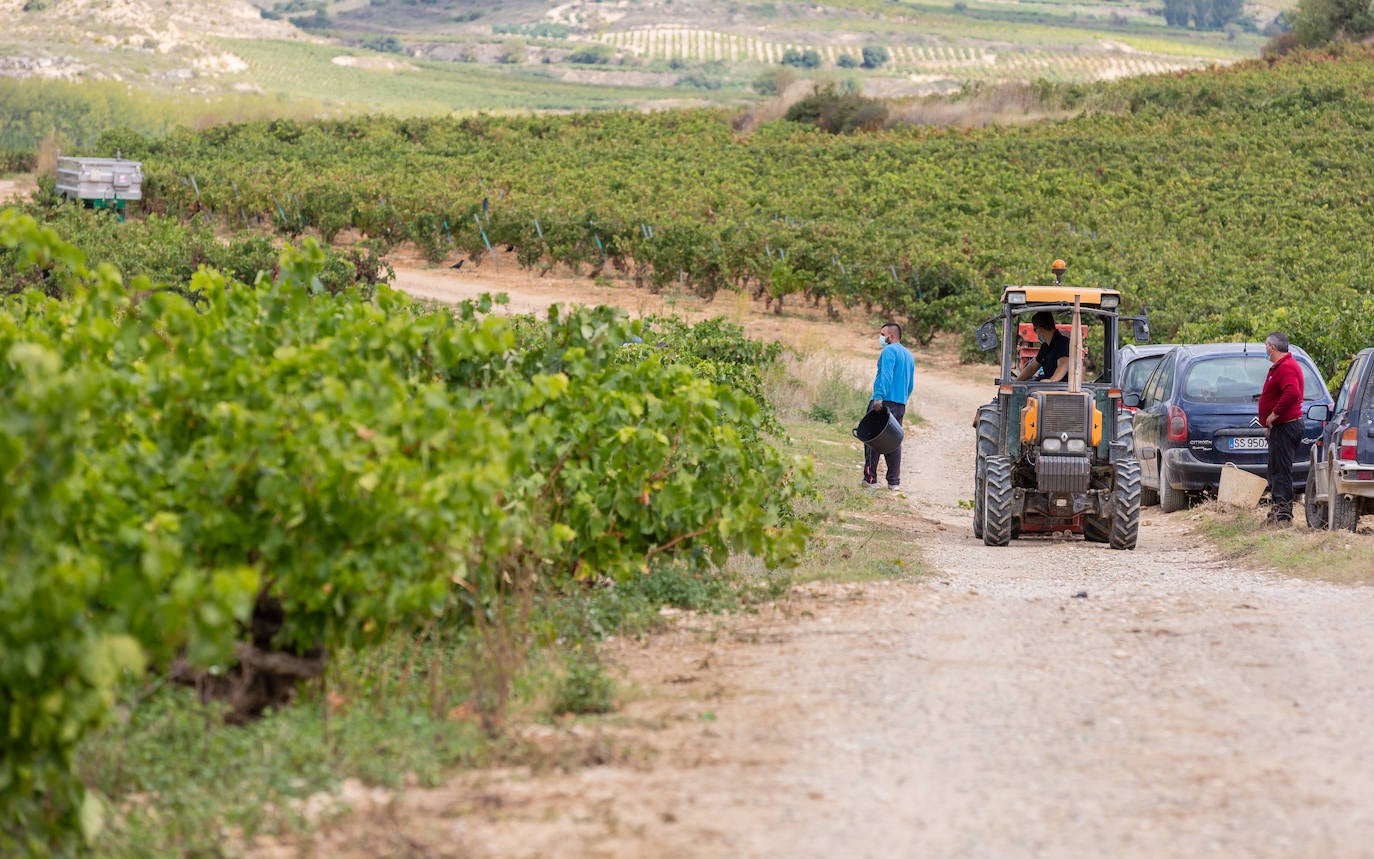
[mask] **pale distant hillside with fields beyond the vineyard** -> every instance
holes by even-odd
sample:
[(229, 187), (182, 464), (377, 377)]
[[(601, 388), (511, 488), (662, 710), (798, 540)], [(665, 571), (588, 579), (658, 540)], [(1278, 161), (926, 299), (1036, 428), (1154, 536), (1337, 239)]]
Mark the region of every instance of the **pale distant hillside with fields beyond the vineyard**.
[(0, 12), (4, 77), (448, 113), (738, 103), (779, 74), (889, 98), (1109, 80), (1254, 56), (1276, 10), (1248, 4), (1224, 30), (1165, 26), (1142, 0), (0, 0)]

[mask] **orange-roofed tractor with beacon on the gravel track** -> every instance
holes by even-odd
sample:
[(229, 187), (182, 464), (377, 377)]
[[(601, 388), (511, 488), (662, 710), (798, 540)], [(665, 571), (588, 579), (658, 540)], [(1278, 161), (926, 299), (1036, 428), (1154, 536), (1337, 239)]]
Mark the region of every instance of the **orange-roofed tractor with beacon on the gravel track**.
[[(1116, 383), (1118, 326), (1134, 323), (1149, 342), (1146, 315), (1121, 316), (1121, 293), (1063, 285), (1007, 286), (1002, 312), (974, 333), (978, 348), (1000, 346), (996, 399), (978, 408), (973, 480), (973, 533), (987, 546), (1026, 535), (1081, 533), (1112, 548), (1135, 548), (1140, 528), (1140, 463), (1131, 444), (1131, 415)], [(1021, 342), (1021, 320), (1048, 311), (1069, 335), (1062, 382), (1018, 382), (1035, 357)], [(1090, 367), (1085, 370), (1085, 367)]]

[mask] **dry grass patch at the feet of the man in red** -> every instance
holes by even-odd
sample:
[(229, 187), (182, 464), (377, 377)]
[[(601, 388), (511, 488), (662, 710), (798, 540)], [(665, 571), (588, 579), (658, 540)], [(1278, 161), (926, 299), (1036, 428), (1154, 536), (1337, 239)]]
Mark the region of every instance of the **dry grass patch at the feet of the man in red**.
[(1227, 557), (1248, 565), (1314, 581), (1374, 584), (1374, 520), (1366, 517), (1356, 532), (1307, 528), (1301, 499), (1294, 504), (1293, 528), (1264, 528), (1260, 510), (1237, 510), (1217, 502), (1197, 507), (1195, 529)]

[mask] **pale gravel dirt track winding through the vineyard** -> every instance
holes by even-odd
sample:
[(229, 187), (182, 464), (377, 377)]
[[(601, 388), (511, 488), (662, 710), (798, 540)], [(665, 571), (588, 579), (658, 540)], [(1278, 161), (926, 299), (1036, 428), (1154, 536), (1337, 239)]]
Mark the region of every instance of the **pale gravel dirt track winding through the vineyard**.
[[(401, 263), (401, 289), (508, 308), (724, 313), (871, 372), (870, 322), (758, 313)], [(1187, 511), (1135, 551), (973, 537), (974, 408), (991, 372), (918, 350), (925, 423), (877, 499), (933, 574), (816, 584), (757, 614), (682, 614), (606, 657), (633, 690), (594, 723), (525, 728), (577, 767), (459, 775), (254, 856), (1374, 856), (1374, 592), (1220, 559)], [(860, 449), (849, 452), (859, 482)]]

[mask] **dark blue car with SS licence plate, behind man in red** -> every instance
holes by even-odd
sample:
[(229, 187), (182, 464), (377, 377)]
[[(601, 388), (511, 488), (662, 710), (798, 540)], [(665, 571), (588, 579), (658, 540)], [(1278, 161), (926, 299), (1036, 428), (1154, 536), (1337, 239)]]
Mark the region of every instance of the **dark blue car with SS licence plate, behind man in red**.
[[(1331, 404), (1326, 382), (1307, 352), (1289, 352), (1303, 367), (1303, 414)], [(1264, 344), (1180, 345), (1165, 355), (1138, 396), (1134, 445), (1140, 460), (1140, 503), (1164, 513), (1187, 504), (1190, 495), (1216, 492), (1228, 462), (1265, 476), (1268, 438), (1257, 415), (1260, 390), (1270, 371)], [(1293, 460), (1293, 489), (1307, 485), (1308, 451), (1322, 425), (1305, 419), (1303, 444)]]

